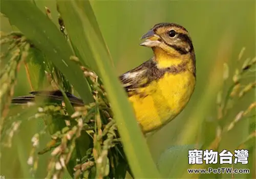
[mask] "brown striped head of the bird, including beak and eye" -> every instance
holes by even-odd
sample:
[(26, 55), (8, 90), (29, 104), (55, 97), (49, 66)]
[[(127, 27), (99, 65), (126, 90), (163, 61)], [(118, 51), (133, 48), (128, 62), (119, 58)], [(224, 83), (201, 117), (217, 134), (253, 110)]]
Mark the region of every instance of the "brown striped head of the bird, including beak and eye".
[(162, 49), (170, 55), (194, 54), (192, 41), (187, 30), (177, 24), (161, 23), (155, 25), (150, 31), (144, 34), (145, 39), (140, 45), (154, 49)]

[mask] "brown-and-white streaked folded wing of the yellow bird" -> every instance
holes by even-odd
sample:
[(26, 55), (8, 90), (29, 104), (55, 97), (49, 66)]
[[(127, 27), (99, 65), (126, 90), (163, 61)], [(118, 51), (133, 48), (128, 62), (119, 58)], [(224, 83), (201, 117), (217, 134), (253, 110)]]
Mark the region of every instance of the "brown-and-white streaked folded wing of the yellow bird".
[(126, 92), (134, 91), (139, 87), (143, 87), (148, 82), (148, 75), (150, 75), (152, 60), (148, 60), (135, 69), (130, 70), (121, 76), (119, 79)]

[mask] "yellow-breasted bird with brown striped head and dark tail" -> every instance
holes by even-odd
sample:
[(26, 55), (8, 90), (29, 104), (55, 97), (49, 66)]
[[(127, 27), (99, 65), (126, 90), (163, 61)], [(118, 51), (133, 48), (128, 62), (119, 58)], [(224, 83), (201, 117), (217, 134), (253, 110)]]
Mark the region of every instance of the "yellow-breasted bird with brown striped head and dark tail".
[[(196, 85), (196, 57), (188, 31), (175, 23), (160, 23), (142, 37), (140, 46), (153, 50), (154, 56), (119, 76), (131, 102), (142, 132), (160, 129), (176, 118), (188, 103)], [(12, 103), (32, 102), (36, 96), (63, 100), (56, 91), (34, 91)], [(84, 105), (80, 98), (66, 92), (71, 104)]]

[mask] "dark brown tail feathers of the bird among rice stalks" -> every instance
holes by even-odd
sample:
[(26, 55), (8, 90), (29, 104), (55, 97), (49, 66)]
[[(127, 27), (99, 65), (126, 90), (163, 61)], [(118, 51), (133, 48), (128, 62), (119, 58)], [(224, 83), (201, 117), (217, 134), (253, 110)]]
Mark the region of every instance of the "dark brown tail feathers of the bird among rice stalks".
[[(35, 98), (38, 97), (45, 97), (49, 100), (57, 100), (63, 101), (64, 97), (59, 90), (55, 91), (34, 91), (30, 92), (31, 96), (19, 96), (12, 99), (13, 104), (26, 104), (29, 102), (35, 102)], [(71, 93), (66, 92), (67, 97), (69, 98), (71, 104), (76, 106), (83, 106), (84, 103), (80, 98), (73, 96)]]

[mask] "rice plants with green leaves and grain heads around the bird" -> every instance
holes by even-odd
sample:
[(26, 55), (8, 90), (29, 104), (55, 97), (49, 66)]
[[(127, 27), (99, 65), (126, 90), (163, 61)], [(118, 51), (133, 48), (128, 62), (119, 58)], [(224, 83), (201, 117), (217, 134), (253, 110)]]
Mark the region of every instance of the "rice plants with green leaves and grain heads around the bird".
[[(1, 46), (6, 47), (1, 52), (1, 60), (7, 59), (0, 73), (1, 145), (12, 147), (14, 136), (18, 135), (20, 127), (26, 128), (23, 125), (26, 121), (43, 121), (44, 125), (34, 133), (30, 154), (24, 159), (29, 170), (27, 177), (36, 177), (38, 170), (42, 171), (39, 160), (44, 156), (49, 158), (46, 178), (67, 177), (66, 171), (74, 178), (124, 178), (128, 175), (135, 178), (209, 177), (207, 174), (188, 173), (189, 168), (209, 166), (188, 165), (187, 158), (182, 157), (187, 157), (187, 150), (191, 148), (221, 151), (225, 138), (232, 131), (236, 132), (234, 129), (243, 121), (249, 124), (246, 138), (239, 145), (233, 145), (236, 149), (250, 151), (247, 168), (251, 173), (246, 177), (255, 176), (256, 103), (255, 99), (248, 101), (246, 97), (255, 88), (256, 57), (246, 58), (243, 48), (235, 59), (234, 72), (229, 63), (224, 63), (223, 78), (219, 79), (223, 85), (215, 94), (216, 112), (211, 119), (214, 125), (204, 128), (203, 134), (201, 131), (198, 132), (200, 135), (195, 133), (202, 138), (193, 145), (167, 149), (158, 162), (154, 162), (113, 73), (113, 59), (91, 3), (57, 1), (56, 4), (56, 10), (45, 7), (44, 13), (35, 2), (28, 1), (3, 1), (1, 7), (1, 13), (13, 27), (11, 32), (1, 32)], [(58, 12), (57, 19), (51, 11)], [(53, 21), (58, 22), (57, 26)], [(10, 113), (16, 107), (11, 106), (11, 99), (20, 65), (25, 66), (32, 90), (60, 89), (62, 102), (42, 98), (36, 104), (23, 105), (17, 113)], [(65, 92), (79, 94), (86, 104), (73, 106)], [(240, 103), (244, 105), (241, 107)], [(213, 130), (214, 135), (210, 136), (207, 130)], [(48, 143), (41, 144), (41, 139), (49, 133)], [(239, 176), (216, 174), (210, 177)]]

